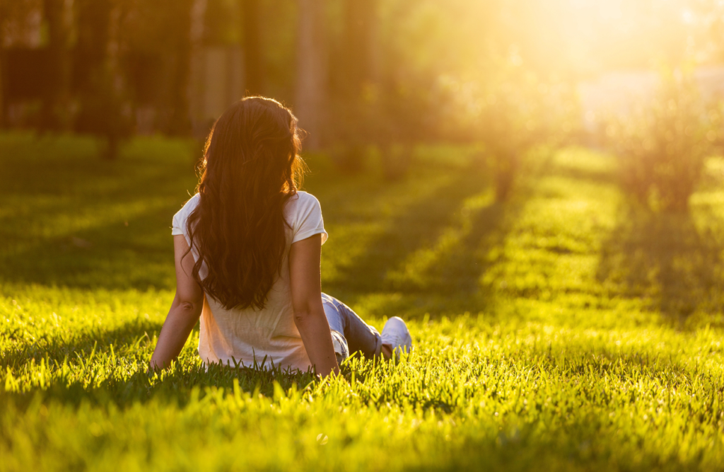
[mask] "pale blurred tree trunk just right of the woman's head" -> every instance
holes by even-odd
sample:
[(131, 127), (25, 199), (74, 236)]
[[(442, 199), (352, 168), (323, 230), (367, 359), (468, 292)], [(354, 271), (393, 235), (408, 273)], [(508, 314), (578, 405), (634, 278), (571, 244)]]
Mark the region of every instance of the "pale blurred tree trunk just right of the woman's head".
[(327, 51), (324, 34), (324, 0), (298, 0), (297, 80), (295, 114), (307, 131), (307, 149), (320, 148), (324, 136), (327, 88)]

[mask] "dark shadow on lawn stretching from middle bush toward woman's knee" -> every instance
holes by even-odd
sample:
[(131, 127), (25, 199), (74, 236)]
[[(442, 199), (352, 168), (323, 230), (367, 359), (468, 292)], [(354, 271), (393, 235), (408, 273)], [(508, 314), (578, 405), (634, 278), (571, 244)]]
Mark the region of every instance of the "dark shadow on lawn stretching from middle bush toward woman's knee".
[[(471, 199), (484, 199), (486, 204), (470, 208), (459, 201), (456, 211), (449, 212), (447, 225), (430, 228), (437, 239), (428, 237), (397, 257), (366, 260), (368, 267), (379, 264), (384, 275), (366, 290), (355, 286), (346, 292), (349, 287), (340, 285), (342, 293), (350, 297), (351, 305), (375, 317), (438, 318), (489, 311), (497, 287), (484, 282), (484, 276), (502, 262), (497, 249), (523, 208), (526, 199), (521, 195), (513, 202), (493, 202), (489, 189), (484, 189)], [(418, 218), (426, 221), (424, 215)], [(384, 238), (379, 244), (384, 245)]]

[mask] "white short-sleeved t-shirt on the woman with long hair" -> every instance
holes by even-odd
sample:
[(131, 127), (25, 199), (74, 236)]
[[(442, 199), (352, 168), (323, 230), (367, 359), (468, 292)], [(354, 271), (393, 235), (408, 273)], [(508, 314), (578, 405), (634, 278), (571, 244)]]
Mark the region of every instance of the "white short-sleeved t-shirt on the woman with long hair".
[[(172, 234), (183, 234), (189, 241), (186, 231), (188, 215), (198, 205), (199, 195), (194, 195), (179, 212), (174, 215)], [(285, 249), (282, 270), (277, 281), (271, 286), (264, 310), (247, 308), (245, 310), (227, 310), (215, 299), (206, 297), (201, 312), (201, 330), (198, 339), (198, 354), (206, 363), (234, 365), (244, 363), (271, 367), (272, 363), (282, 368), (307, 370), (311, 363), (301, 336), (294, 323), (292, 296), (289, 284), (289, 249), (292, 243), (321, 234), (321, 242), (327, 241), (324, 221), (321, 217), (319, 201), (305, 191), (292, 196), (284, 209), (287, 227), (287, 247)], [(198, 253), (192, 248), (195, 260)], [(199, 271), (201, 278), (206, 276), (206, 268)]]

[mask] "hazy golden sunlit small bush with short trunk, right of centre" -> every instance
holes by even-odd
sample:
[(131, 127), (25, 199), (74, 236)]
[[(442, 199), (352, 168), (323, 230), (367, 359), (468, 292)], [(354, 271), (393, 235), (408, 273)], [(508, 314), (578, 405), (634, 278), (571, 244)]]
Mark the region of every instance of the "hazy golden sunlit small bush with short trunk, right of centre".
[(541, 80), (520, 67), (515, 50), (495, 75), (480, 82), (446, 78), (451, 97), (444, 133), (458, 141), (478, 141), (492, 174), (495, 196), (505, 202), (534, 148), (555, 148), (571, 138), (578, 121), (571, 83)]

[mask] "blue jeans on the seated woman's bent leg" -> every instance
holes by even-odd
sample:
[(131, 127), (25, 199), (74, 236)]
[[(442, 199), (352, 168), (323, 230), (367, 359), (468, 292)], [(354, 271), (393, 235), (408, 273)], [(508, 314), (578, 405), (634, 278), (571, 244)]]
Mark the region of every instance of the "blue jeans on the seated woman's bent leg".
[(327, 294), (321, 294), (324, 314), (327, 315), (332, 338), (342, 346), (342, 357), (349, 357), (353, 352), (360, 352), (363, 357), (371, 359), (379, 355), (382, 349), (382, 336), (365, 323), (350, 307)]

